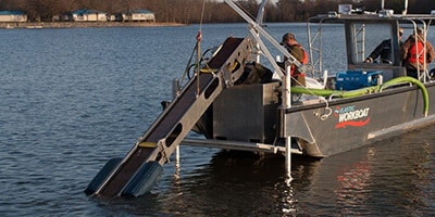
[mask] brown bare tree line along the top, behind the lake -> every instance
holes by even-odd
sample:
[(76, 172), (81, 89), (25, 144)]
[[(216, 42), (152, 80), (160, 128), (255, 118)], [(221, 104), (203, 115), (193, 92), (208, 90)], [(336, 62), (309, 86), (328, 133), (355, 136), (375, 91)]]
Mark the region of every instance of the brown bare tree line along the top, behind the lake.
[[(203, 4), (206, 1), (206, 4)], [(248, 14), (256, 17), (257, 0), (236, 0)], [(356, 3), (358, 2), (358, 3)], [(385, 0), (385, 8), (401, 13), (405, 0)], [(303, 22), (308, 17), (337, 11), (338, 4), (362, 5), (366, 11), (378, 11), (381, 0), (277, 0), (269, 1), (266, 22)], [(408, 13), (430, 13), (434, 0), (409, 0)], [(223, 0), (0, 0), (0, 10), (20, 10), (29, 21), (51, 21), (54, 15), (87, 9), (109, 14), (147, 9), (161, 23), (233, 23), (243, 20)], [(202, 10), (204, 9), (204, 10)], [(203, 12), (203, 13), (202, 13)]]

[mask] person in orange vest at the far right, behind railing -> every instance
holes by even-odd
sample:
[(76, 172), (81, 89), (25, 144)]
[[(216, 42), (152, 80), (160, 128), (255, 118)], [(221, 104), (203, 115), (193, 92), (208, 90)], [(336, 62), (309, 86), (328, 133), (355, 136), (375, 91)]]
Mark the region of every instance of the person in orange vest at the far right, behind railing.
[[(424, 59), (426, 60), (424, 61)], [(432, 43), (425, 41), (423, 28), (418, 27), (417, 34), (410, 35), (402, 47), (401, 60), (407, 68), (407, 76), (419, 79), (418, 71), (424, 73), (427, 64), (432, 63), (434, 59), (435, 52)]]

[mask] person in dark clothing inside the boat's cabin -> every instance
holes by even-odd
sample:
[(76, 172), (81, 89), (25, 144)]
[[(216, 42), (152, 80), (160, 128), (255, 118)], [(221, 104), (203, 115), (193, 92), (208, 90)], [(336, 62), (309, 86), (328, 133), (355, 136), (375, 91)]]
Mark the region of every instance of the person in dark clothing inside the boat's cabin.
[[(402, 47), (401, 36), (403, 35), (403, 29), (399, 28), (398, 31), (399, 48)], [(380, 58), (381, 63), (393, 64), (391, 59), (391, 39), (383, 40), (370, 55), (365, 59), (364, 63), (374, 63), (376, 59)]]

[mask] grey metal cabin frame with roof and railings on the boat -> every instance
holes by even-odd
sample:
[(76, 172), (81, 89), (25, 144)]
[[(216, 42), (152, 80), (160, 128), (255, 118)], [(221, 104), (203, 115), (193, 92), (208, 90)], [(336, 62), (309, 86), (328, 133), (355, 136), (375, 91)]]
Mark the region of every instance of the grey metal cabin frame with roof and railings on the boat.
[[(385, 12), (385, 11), (388, 11)], [(397, 49), (395, 52), (395, 61), (390, 63), (390, 66), (382, 66), (382, 65), (368, 65), (363, 64), (363, 61), (366, 58), (366, 24), (388, 24), (391, 25), (391, 37), (394, 38), (396, 35), (395, 28), (405, 28), (405, 29), (412, 29), (414, 33), (414, 38), (418, 40), (427, 41), (427, 33), (431, 26), (432, 20), (435, 18), (435, 13), (431, 14), (394, 14), (393, 10), (384, 10), (381, 12), (360, 12), (360, 13), (347, 13), (347, 14), (339, 14), (336, 12), (330, 12), (327, 14), (320, 14), (318, 16), (311, 17), (307, 22), (307, 31), (308, 31), (308, 44), (309, 44), (309, 53), (310, 53), (310, 62), (313, 66), (313, 77), (321, 78), (324, 76), (324, 72), (331, 68), (324, 68), (324, 54), (322, 54), (322, 30), (326, 24), (337, 24), (337, 23), (356, 23), (352, 28), (347, 29), (348, 31), (352, 31), (348, 35), (347, 40), (350, 40), (351, 43), (347, 47), (348, 54), (352, 56), (352, 60), (348, 60), (348, 69), (355, 68), (385, 68), (386, 71), (394, 71), (393, 73), (396, 76), (403, 76), (405, 72), (400, 48)], [(366, 22), (366, 23), (364, 23)], [(423, 29), (423, 37), (418, 37), (417, 29)], [(403, 40), (406, 38), (403, 37)], [(398, 40), (397, 40), (398, 41)], [(396, 42), (396, 39), (395, 39)], [(399, 42), (399, 41), (398, 41)], [(421, 49), (421, 53), (418, 53), (417, 59), (426, 61), (426, 43), (423, 42), (424, 48)], [(350, 49), (351, 48), (351, 49)], [(349, 53), (350, 52), (350, 53)], [(389, 68), (388, 68), (389, 67)], [(334, 68), (335, 69), (335, 68)], [(426, 82), (430, 78), (430, 69), (428, 64), (417, 64), (417, 72), (419, 80)], [(390, 74), (390, 73), (389, 73)], [(394, 76), (393, 76), (394, 77)], [(391, 78), (393, 78), (391, 77)]]

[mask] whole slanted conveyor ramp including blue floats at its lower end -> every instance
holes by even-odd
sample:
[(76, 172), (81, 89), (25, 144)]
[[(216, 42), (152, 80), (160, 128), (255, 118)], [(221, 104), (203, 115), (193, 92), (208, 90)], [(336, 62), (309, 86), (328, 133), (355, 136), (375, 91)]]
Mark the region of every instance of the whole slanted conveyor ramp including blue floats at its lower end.
[[(85, 192), (103, 196), (138, 196), (152, 189), (162, 166), (221, 91), (231, 87), (250, 61), (250, 38), (227, 38), (209, 61), (215, 73), (200, 73), (139, 138), (124, 158), (112, 158)], [(198, 91), (199, 90), (199, 91)]]

